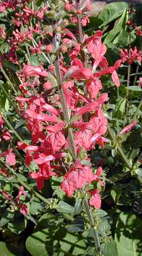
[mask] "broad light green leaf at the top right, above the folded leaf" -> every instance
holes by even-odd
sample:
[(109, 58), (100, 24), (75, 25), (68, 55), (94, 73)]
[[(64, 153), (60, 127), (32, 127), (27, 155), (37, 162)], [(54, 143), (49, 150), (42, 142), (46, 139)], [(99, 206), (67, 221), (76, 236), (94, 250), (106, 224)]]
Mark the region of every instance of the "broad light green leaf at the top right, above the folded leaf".
[(111, 21), (119, 18), (126, 8), (128, 8), (128, 4), (124, 2), (109, 3), (101, 13), (99, 13), (98, 18), (102, 19), (103, 26), (106, 26)]

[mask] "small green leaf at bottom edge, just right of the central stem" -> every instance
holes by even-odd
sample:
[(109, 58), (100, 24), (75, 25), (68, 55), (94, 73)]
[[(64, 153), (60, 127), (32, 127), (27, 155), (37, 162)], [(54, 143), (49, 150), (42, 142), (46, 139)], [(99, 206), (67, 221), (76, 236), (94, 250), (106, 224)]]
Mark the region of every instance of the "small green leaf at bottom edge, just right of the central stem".
[(104, 247), (105, 256), (118, 256), (118, 249), (115, 241), (106, 242)]

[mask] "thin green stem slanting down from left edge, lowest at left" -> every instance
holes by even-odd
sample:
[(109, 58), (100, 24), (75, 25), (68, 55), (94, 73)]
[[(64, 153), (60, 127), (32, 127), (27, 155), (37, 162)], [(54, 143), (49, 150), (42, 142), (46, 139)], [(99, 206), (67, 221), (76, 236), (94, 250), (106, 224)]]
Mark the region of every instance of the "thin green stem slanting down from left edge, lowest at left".
[[(1, 159), (0, 159), (0, 162), (3, 163), (3, 165), (5, 165), (5, 162), (3, 162)], [(10, 172), (13, 174), (14, 178), (16, 179), (16, 181), (18, 181), (23, 187), (25, 187), (25, 189), (27, 189), (31, 194), (34, 194), (37, 198), (41, 199), (41, 201), (47, 203), (48, 205), (51, 205), (51, 202), (47, 199), (47, 198), (44, 198), (42, 195), (40, 195), (39, 193), (37, 193), (34, 189), (32, 189), (31, 187), (29, 187), (24, 181), (22, 181), (18, 175), (15, 173), (14, 170), (12, 170), (9, 166), (6, 166), (7, 169), (10, 170)]]

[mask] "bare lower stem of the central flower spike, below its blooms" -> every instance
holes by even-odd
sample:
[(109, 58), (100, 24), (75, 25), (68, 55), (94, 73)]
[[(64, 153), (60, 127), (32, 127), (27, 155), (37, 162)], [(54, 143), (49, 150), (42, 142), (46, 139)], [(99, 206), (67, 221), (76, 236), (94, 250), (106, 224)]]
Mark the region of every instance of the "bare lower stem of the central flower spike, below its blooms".
[(88, 202), (88, 199), (86, 198), (86, 196), (83, 199), (83, 206), (84, 206), (85, 212), (87, 213), (87, 216), (89, 218), (91, 229), (93, 230), (95, 249), (101, 255), (101, 247), (100, 247), (98, 232), (96, 230), (94, 230), (94, 218), (93, 218), (93, 214), (91, 212), (91, 208), (89, 206), (89, 202)]

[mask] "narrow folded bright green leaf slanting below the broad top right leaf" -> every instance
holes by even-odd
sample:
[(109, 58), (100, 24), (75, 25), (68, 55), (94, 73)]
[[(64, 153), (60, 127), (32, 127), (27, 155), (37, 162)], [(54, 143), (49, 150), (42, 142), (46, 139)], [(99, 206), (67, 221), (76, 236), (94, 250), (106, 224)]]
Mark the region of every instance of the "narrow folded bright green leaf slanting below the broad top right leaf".
[[(109, 44), (110, 42), (113, 43), (114, 40), (116, 39), (116, 36), (120, 33), (120, 31), (122, 31), (122, 29), (126, 27), (127, 20), (128, 20), (128, 13), (127, 13), (127, 9), (125, 9), (118, 24), (114, 27), (114, 29), (112, 29), (107, 33), (105, 40), (103, 42), (105, 44)], [(117, 43), (116, 40), (115, 40), (115, 43)]]

